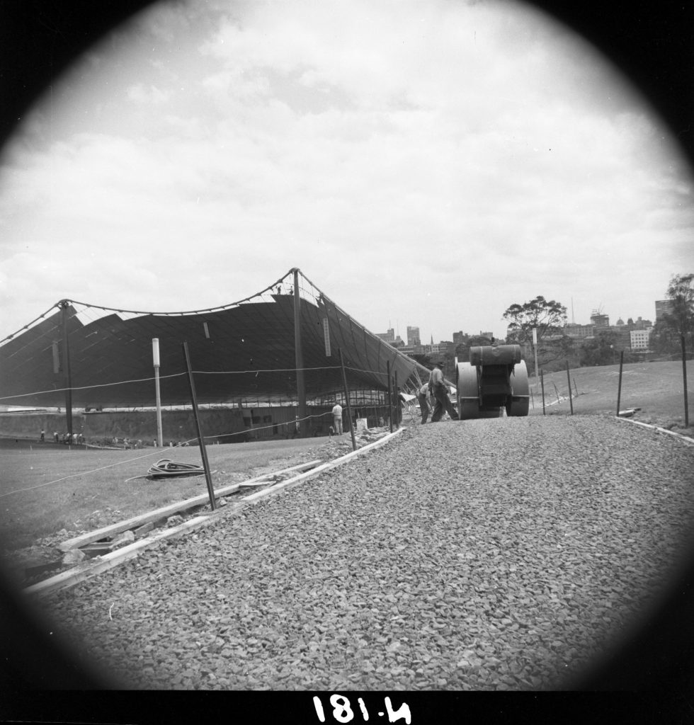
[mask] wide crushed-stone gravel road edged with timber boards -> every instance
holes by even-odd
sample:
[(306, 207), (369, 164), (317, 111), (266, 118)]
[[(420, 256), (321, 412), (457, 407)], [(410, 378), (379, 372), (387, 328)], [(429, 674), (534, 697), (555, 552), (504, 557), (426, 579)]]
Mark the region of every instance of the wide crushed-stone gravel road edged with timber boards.
[(693, 543), (694, 447), (615, 418), (408, 428), (44, 600), (132, 689), (556, 689)]

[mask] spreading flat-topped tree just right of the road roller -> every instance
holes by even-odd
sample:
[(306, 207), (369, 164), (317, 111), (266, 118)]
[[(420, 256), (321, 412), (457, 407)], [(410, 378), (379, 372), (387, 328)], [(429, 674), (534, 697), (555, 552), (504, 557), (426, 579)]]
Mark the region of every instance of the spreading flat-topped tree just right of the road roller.
[[(564, 336), (561, 328), (566, 322), (566, 307), (554, 299), (545, 299), (538, 295), (530, 302), (523, 305), (511, 305), (503, 313), (505, 320), (508, 320), (508, 332), (506, 340), (510, 343), (517, 343), (521, 346), (528, 346), (530, 356), (534, 359), (535, 345), (532, 331), (537, 330), (537, 357), (542, 364), (558, 360), (565, 354), (566, 349), (571, 347), (568, 341), (559, 342)], [(547, 344), (553, 338), (552, 344)], [(545, 344), (542, 344), (543, 340)]]

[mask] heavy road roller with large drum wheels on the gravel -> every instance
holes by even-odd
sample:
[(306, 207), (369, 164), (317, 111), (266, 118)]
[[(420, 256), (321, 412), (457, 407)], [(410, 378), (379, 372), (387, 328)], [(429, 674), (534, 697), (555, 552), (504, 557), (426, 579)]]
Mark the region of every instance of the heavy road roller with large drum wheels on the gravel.
[(528, 370), (520, 345), (470, 348), (470, 362), (458, 363), (458, 413), (461, 421), (528, 415)]

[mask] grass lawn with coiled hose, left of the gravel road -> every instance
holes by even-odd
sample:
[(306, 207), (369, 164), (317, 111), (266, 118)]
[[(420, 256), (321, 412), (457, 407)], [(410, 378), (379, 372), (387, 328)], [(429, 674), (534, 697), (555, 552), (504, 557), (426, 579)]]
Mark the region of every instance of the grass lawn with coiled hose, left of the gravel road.
[[(207, 447), (215, 489), (260, 473), (342, 455), (349, 436)], [(65, 529), (92, 531), (168, 503), (207, 494), (205, 476), (145, 476), (163, 458), (202, 465), (198, 447), (70, 450), (4, 439), (0, 447), (0, 550), (29, 547)], [(68, 537), (65, 537), (68, 538)]]

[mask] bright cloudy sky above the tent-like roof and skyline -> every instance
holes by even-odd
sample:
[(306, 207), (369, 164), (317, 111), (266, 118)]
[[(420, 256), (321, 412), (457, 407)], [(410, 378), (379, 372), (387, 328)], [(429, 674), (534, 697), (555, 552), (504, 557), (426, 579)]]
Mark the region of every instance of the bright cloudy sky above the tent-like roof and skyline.
[(523, 4), (153, 7), (0, 157), (0, 338), (59, 299), (155, 312), (298, 267), (372, 332), (503, 334), (538, 294), (653, 320), (691, 170), (590, 44)]

